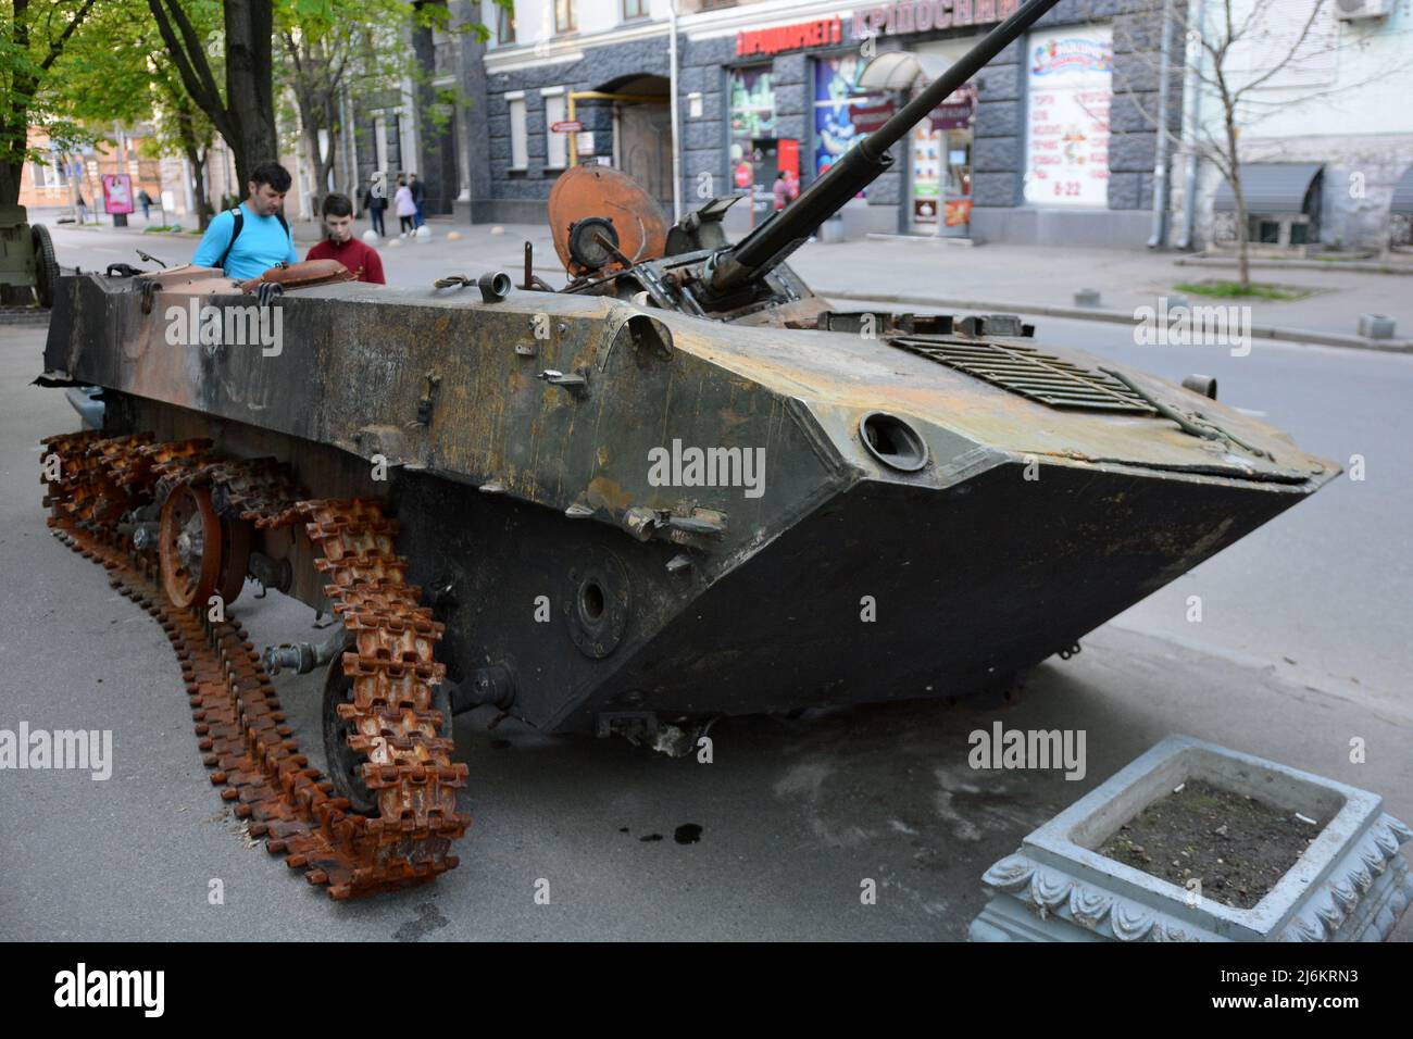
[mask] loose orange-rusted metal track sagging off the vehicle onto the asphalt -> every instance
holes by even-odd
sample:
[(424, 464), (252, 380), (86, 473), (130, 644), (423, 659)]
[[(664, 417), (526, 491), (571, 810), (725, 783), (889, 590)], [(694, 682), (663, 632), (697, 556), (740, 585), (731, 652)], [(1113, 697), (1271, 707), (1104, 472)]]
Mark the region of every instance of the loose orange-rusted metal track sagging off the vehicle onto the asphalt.
[[(58, 479), (45, 479), (54, 534), (107, 568), (109, 582), (161, 622), (181, 662), (211, 782), (236, 802), (250, 833), (335, 899), (452, 869), (451, 843), (468, 824), (456, 813), (456, 790), (468, 772), (452, 763), (451, 739), (438, 736), (444, 720), (431, 705), (432, 686), (445, 669), (432, 650), (442, 625), (406, 581), (407, 563), (393, 550), (396, 522), (369, 500), (301, 500), (281, 466), (220, 458), (208, 441), (79, 433), (44, 445), (42, 457), (58, 455), (61, 466)], [(350, 727), (349, 746), (366, 758), (377, 817), (352, 813), (300, 753), (244, 628), (229, 612), (211, 621), (203, 601), (175, 606), (162, 592), (155, 553), (138, 553), (119, 534), (122, 516), (182, 483), (211, 486), (232, 523), (270, 529), (302, 519), (322, 550), (315, 565), (331, 581), (325, 594), (355, 650), (342, 660), (353, 691), (339, 714)]]

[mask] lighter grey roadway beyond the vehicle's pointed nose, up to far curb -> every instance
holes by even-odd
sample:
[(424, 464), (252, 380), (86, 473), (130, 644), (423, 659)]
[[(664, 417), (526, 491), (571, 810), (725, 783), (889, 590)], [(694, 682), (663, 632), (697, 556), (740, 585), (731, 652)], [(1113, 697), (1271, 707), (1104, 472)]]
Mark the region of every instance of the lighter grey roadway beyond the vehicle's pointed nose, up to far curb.
[[(1218, 379), (1224, 403), (1344, 466), (1338, 479), (1121, 615), (1115, 623), (1270, 666), (1297, 684), (1413, 711), (1413, 358), (1262, 344), (1136, 346), (1129, 329), (1046, 318), (1037, 342), (1173, 382)], [(1364, 479), (1351, 479), (1355, 455)], [(1200, 595), (1202, 621), (1188, 622)]]

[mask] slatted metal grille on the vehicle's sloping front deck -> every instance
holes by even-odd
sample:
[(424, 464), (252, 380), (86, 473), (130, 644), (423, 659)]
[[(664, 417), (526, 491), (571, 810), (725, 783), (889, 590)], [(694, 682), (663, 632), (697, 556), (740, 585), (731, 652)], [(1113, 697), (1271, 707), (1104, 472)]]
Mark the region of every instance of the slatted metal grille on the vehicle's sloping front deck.
[(1112, 375), (1082, 368), (1034, 346), (911, 336), (897, 336), (890, 342), (1050, 407), (1156, 414), (1146, 400)]

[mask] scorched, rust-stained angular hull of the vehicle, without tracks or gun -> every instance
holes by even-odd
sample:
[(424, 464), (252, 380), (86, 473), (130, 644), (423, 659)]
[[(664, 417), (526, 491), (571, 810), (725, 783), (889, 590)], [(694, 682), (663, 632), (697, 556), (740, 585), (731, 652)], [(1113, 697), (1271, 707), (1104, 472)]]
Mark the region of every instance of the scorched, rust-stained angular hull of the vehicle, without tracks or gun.
[(270, 304), (274, 355), (168, 344), (170, 308), (220, 287), (65, 278), (47, 368), (107, 387), (119, 431), (274, 455), (317, 498), (386, 496), (456, 707), (550, 731), (964, 695), (1338, 472), (1205, 397), (978, 328), (339, 284)]

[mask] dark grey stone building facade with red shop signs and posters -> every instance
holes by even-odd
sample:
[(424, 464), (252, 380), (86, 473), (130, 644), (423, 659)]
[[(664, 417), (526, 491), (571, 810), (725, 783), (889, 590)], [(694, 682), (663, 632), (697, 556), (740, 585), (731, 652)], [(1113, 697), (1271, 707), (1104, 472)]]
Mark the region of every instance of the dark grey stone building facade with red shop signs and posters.
[[(680, 3), (681, 206), (736, 194), (728, 226), (759, 221), (781, 170), (808, 185), (1015, 8)], [(577, 161), (626, 170), (671, 212), (668, 3), (521, 0), (513, 20), (490, 3), (482, 17), (492, 38), (468, 49), (463, 81), (471, 219), (541, 222)], [(1145, 242), (1157, 18), (1147, 0), (1063, 0), (893, 148), (893, 168), (845, 206), (844, 232)], [(1170, 66), (1176, 127), (1181, 52)]]

